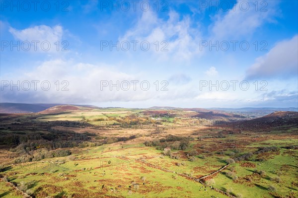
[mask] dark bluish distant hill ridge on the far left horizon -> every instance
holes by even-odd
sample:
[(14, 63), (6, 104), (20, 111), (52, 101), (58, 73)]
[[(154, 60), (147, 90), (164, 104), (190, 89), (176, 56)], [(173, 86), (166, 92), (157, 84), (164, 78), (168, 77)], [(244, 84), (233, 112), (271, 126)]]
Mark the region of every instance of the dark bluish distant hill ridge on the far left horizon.
[[(23, 104), (23, 103), (0, 103), (0, 113), (37, 113), (48, 108), (63, 104)], [(75, 105), (78, 107), (98, 108), (92, 105)]]

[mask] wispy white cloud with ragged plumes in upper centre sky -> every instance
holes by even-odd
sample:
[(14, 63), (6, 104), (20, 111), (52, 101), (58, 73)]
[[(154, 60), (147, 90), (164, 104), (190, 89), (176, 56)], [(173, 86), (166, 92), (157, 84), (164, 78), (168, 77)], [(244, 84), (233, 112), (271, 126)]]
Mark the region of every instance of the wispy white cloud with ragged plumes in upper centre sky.
[[(175, 11), (170, 11), (168, 16), (167, 20), (163, 20), (152, 11), (143, 12), (136, 25), (126, 31), (119, 40), (148, 41), (150, 51), (162, 59), (189, 61), (199, 55), (201, 52), (198, 43), (201, 34), (197, 29), (191, 28), (191, 19), (188, 16), (179, 19), (179, 14)], [(156, 41), (159, 41), (157, 51), (154, 45)], [(168, 45), (165, 47), (165, 44), (161, 44), (162, 41), (166, 41)], [(161, 51), (161, 47), (168, 51)]]

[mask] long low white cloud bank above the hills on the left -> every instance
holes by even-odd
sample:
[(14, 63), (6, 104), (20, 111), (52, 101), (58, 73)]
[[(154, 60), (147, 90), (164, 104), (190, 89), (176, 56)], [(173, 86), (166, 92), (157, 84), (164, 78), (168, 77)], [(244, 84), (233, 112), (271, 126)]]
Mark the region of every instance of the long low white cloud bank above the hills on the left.
[[(182, 91), (174, 90), (175, 92), (161, 91), (162, 88), (170, 90), (170, 85), (161, 83), (160, 79), (154, 79), (154, 76), (149, 79), (142, 74), (123, 72), (111, 65), (74, 63), (73, 61), (63, 61), (59, 59), (44, 62), (29, 72), (22, 71), (21, 73), (14, 73), (10, 78), (1, 76), (1, 79), (8, 80), (9, 82), (12, 80), (14, 84), (17, 80), (20, 81), (20, 84), (25, 80), (29, 82), (39, 80), (36, 91), (34, 90), (34, 83), (31, 83), (31, 89), (28, 91), (24, 91), (22, 88), (20, 88), (20, 91), (17, 91), (16, 88), (11, 91), (9, 86), (3, 87), (3, 91), (1, 91), (1, 101), (68, 104), (144, 102), (154, 99), (176, 99), (177, 97), (189, 95), (185, 94), (185, 92), (189, 92), (188, 89)], [(49, 81), (51, 85), (48, 91), (44, 91), (41, 88), (41, 82), (45, 80)], [(59, 91), (57, 91), (58, 80), (60, 85)], [(134, 84), (132, 80), (139, 80), (139, 82), (135, 82), (136, 84)], [(159, 80), (158, 86), (156, 85), (156, 80)], [(62, 81), (69, 82), (67, 86), (68, 91), (61, 90), (67, 85), (67, 83), (62, 84)], [(107, 81), (108, 86), (101, 88), (101, 81)], [(118, 85), (112, 86), (112, 84), (117, 84), (117, 81), (119, 81)], [(130, 88), (128, 90), (125, 90), (128, 84), (126, 82), (122, 83), (123, 81), (129, 82)], [(142, 81), (149, 82), (149, 90), (145, 90), (147, 89), (147, 83), (144, 83), (141, 87)], [(136, 90), (134, 90), (134, 86)]]

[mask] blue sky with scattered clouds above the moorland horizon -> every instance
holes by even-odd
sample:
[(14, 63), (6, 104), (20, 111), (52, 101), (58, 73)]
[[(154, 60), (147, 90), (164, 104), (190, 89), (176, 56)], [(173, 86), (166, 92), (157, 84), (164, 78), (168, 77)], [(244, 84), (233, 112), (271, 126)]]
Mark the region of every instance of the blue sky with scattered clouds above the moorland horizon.
[(298, 107), (297, 0), (0, 0), (0, 102)]

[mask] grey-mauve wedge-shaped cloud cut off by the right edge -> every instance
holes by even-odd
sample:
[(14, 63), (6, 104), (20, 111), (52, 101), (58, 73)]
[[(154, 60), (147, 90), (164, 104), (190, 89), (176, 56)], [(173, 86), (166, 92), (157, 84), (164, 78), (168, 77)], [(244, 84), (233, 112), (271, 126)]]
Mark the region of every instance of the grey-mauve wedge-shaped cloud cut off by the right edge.
[(298, 35), (276, 44), (267, 54), (256, 59), (246, 71), (247, 79), (287, 77), (298, 73)]

